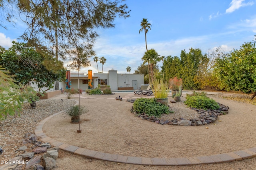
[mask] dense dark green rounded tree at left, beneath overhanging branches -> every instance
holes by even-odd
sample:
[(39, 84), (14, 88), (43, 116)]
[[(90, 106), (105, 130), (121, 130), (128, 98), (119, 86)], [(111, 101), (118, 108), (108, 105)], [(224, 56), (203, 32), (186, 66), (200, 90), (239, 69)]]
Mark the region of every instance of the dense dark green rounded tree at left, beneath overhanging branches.
[[(33, 47), (28, 47), (25, 43), (12, 42), (12, 47), (8, 50), (0, 51), (0, 65), (8, 70), (9, 75), (15, 75), (16, 82), (28, 85), (37, 84), (39, 91), (40, 88), (53, 88), (56, 80), (64, 80), (66, 70), (62, 66), (59, 69), (51, 69), (59, 67), (60, 62), (55, 60), (50, 55), (38, 53)], [(51, 60), (49, 58), (52, 58)], [(48, 61), (52, 66), (48, 70), (44, 64), (49, 66)]]

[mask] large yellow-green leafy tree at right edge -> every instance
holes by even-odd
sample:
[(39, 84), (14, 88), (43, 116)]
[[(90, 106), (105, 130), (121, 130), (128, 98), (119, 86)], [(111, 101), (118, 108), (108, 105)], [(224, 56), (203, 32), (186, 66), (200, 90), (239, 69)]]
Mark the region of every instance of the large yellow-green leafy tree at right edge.
[(244, 43), (240, 49), (233, 50), (223, 59), (217, 60), (215, 73), (220, 82), (220, 89), (247, 94), (256, 92), (255, 43)]

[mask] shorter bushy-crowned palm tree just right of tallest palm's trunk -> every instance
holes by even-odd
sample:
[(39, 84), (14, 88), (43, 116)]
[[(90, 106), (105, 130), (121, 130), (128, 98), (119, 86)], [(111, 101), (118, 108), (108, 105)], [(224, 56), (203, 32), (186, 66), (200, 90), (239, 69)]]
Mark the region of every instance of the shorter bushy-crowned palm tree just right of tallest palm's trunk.
[(161, 61), (161, 57), (159, 57), (158, 53), (154, 49), (150, 49), (145, 52), (144, 56), (142, 57), (142, 60), (144, 60), (143, 64), (148, 63), (148, 75), (151, 78), (151, 81), (154, 77), (154, 65)]

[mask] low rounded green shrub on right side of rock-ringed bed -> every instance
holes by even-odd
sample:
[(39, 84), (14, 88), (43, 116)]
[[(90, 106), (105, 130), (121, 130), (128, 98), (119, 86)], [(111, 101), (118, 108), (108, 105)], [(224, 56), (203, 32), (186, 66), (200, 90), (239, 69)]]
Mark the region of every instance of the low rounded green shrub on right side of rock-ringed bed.
[(198, 109), (218, 109), (219, 104), (206, 96), (186, 96), (186, 105)]

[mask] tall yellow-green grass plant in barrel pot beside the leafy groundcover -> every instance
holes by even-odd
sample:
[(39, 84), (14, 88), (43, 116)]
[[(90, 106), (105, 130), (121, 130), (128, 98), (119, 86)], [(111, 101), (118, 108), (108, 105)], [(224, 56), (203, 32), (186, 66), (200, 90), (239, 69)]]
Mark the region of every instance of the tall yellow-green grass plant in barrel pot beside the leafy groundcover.
[(152, 92), (156, 98), (157, 102), (160, 102), (166, 106), (168, 106), (168, 94), (170, 92), (168, 81), (164, 80), (164, 78), (156, 78), (154, 76), (152, 84)]

